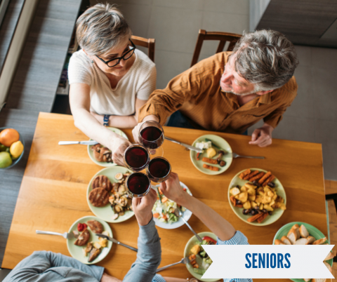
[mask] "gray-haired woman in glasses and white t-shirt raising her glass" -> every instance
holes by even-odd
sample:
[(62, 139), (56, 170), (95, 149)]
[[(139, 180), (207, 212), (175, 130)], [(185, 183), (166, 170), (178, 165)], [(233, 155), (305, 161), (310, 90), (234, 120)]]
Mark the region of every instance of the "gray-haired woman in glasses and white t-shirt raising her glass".
[(122, 164), (131, 143), (105, 126), (136, 126), (138, 110), (156, 88), (156, 67), (136, 49), (128, 23), (113, 5), (88, 8), (77, 20), (76, 34), (81, 50), (68, 69), (74, 124)]

